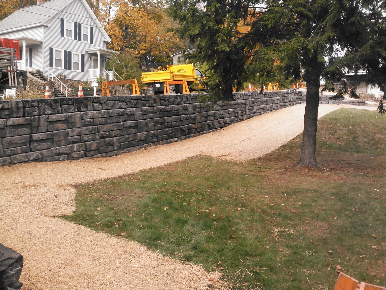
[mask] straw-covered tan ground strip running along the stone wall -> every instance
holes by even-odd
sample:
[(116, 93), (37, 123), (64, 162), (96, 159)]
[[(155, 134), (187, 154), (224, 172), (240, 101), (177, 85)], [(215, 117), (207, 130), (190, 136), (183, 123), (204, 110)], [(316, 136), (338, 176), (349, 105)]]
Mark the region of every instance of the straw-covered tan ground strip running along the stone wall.
[[(320, 105), (319, 117), (339, 109)], [(237, 161), (264, 155), (303, 130), (305, 105), (213, 133), (109, 158), (0, 167), (0, 242), (24, 256), (22, 289), (222, 289), (220, 273), (182, 264), (141, 244), (55, 218), (75, 208), (74, 184), (117, 177), (195, 155)]]

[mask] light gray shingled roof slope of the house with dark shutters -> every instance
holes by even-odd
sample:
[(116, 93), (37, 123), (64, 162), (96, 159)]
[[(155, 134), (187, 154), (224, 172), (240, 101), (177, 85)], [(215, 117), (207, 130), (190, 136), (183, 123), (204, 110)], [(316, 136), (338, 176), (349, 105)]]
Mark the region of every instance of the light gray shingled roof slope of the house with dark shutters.
[(0, 32), (17, 27), (44, 23), (72, 0), (51, 0), (16, 10), (0, 22)]

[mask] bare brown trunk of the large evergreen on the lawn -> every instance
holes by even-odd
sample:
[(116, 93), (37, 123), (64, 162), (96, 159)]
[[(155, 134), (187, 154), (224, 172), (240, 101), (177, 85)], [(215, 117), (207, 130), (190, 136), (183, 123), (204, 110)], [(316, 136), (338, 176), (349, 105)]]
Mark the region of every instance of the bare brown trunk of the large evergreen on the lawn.
[(318, 126), (320, 74), (311, 70), (307, 76), (306, 109), (304, 114), (303, 142), (298, 167), (320, 167), (316, 160), (316, 133)]

